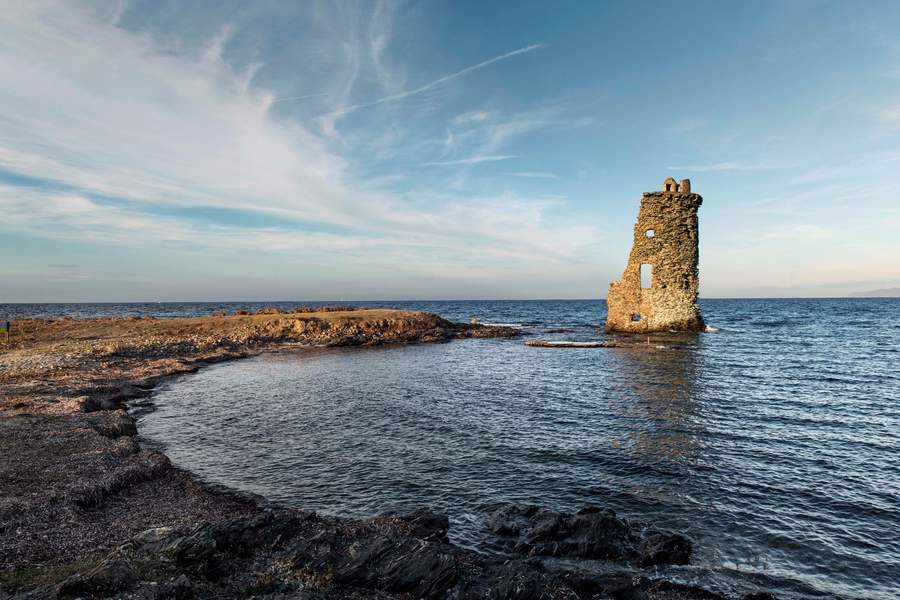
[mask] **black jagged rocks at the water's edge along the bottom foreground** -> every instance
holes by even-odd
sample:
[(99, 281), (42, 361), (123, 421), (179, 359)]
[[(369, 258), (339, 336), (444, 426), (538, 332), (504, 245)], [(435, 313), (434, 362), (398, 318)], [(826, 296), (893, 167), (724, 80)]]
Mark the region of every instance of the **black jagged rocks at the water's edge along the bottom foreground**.
[[(653, 530), (642, 537), (612, 511), (594, 507), (576, 514), (507, 507), (493, 515), (492, 526), (535, 544), (560, 535), (581, 536), (584, 539), (571, 542), (573, 548), (591, 554), (597, 544), (610, 544), (629, 559), (639, 558), (635, 544), (661, 533)], [(117, 548), (97, 568), (66, 580), (59, 595), (148, 600), (725, 600), (698, 587), (643, 576), (633, 562), (623, 563), (619, 571), (573, 570), (558, 562), (550, 569), (536, 557), (474, 554), (448, 543), (447, 528), (444, 515), (427, 510), (349, 521), (273, 509), (221, 524), (200, 523), (186, 533), (150, 529)], [(588, 535), (591, 531), (595, 535)], [(569, 547), (569, 542), (546, 543)]]

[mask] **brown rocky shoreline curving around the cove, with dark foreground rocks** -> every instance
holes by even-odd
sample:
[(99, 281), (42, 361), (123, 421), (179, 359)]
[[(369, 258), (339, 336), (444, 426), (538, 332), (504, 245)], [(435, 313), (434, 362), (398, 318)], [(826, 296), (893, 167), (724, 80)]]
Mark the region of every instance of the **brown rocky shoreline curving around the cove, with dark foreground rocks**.
[(16, 325), (0, 352), (0, 598), (723, 598), (655, 576), (689, 561), (687, 538), (608, 510), (507, 507), (491, 529), (509, 558), (485, 557), (427, 510), (349, 520), (211, 489), (141, 447), (124, 410), (223, 360), (516, 330), (346, 309)]

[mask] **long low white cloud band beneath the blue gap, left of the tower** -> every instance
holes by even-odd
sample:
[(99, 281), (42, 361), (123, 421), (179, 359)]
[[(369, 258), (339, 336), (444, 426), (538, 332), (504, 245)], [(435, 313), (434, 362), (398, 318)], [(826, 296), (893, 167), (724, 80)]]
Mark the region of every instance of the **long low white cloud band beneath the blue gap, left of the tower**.
[[(203, 254), (236, 252), (302, 253), (339, 261), (354, 261), (371, 252), (379, 260), (397, 256), (412, 258), (422, 249), (441, 256), (468, 256), (539, 261), (569, 261), (573, 253), (592, 235), (590, 227), (571, 225), (548, 238), (542, 226), (546, 208), (558, 199), (523, 199), (514, 194), (476, 197), (466, 202), (447, 203), (440, 211), (426, 215), (411, 211), (404, 227), (369, 231), (353, 236), (308, 231), (285, 222), (281, 226), (238, 226), (186, 221), (173, 216), (148, 214), (129, 206), (100, 204), (75, 193), (55, 193), (41, 189), (23, 191), (0, 185), (0, 211), (4, 226), (19, 233), (53, 240), (75, 240), (102, 245), (143, 245), (157, 249), (176, 248)], [(467, 243), (460, 240), (469, 238)], [(418, 258), (419, 266), (429, 261)]]

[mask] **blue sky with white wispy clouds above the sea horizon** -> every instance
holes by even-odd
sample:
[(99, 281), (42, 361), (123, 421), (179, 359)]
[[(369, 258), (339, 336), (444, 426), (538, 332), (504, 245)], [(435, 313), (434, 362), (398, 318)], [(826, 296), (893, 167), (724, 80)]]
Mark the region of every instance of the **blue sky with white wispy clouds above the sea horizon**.
[(0, 302), (900, 286), (896, 2), (8, 3)]

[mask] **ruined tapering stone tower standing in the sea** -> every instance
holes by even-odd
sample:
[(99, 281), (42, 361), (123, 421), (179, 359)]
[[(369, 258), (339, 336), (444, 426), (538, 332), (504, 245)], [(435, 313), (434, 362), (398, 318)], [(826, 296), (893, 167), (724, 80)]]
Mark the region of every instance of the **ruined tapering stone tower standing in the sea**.
[(663, 191), (646, 192), (622, 279), (609, 284), (607, 331), (701, 331), (697, 305), (697, 209), (691, 182), (669, 177)]

